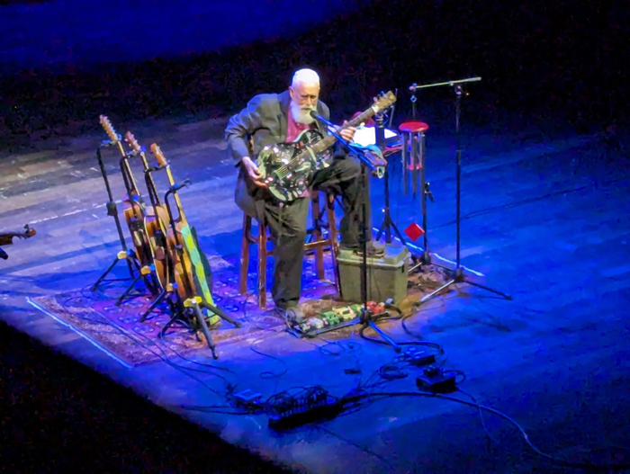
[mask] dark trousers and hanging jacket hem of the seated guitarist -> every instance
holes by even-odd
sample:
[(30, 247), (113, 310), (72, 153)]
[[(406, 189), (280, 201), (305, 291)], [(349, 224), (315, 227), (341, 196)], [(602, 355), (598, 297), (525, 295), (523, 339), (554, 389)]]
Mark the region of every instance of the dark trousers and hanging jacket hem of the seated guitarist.
[[(236, 203), (248, 216), (260, 219), (262, 214), (262, 219), (266, 220), (274, 242), (272, 296), (277, 307), (294, 306), (302, 293), (302, 264), (311, 198), (300, 198), (282, 206), (271, 199), (255, 199), (252, 192), (247, 191), (244, 173), (241, 169), (238, 175)], [(364, 201), (369, 204), (361, 165), (350, 157), (334, 159), (328, 168), (315, 172), (311, 187), (314, 191), (333, 192), (341, 198), (344, 211), (339, 228), (342, 246), (360, 246), (363, 237), (362, 204)], [(367, 215), (370, 215), (369, 207)], [(366, 227), (369, 241), (372, 239), (372, 229), (369, 225)]]

